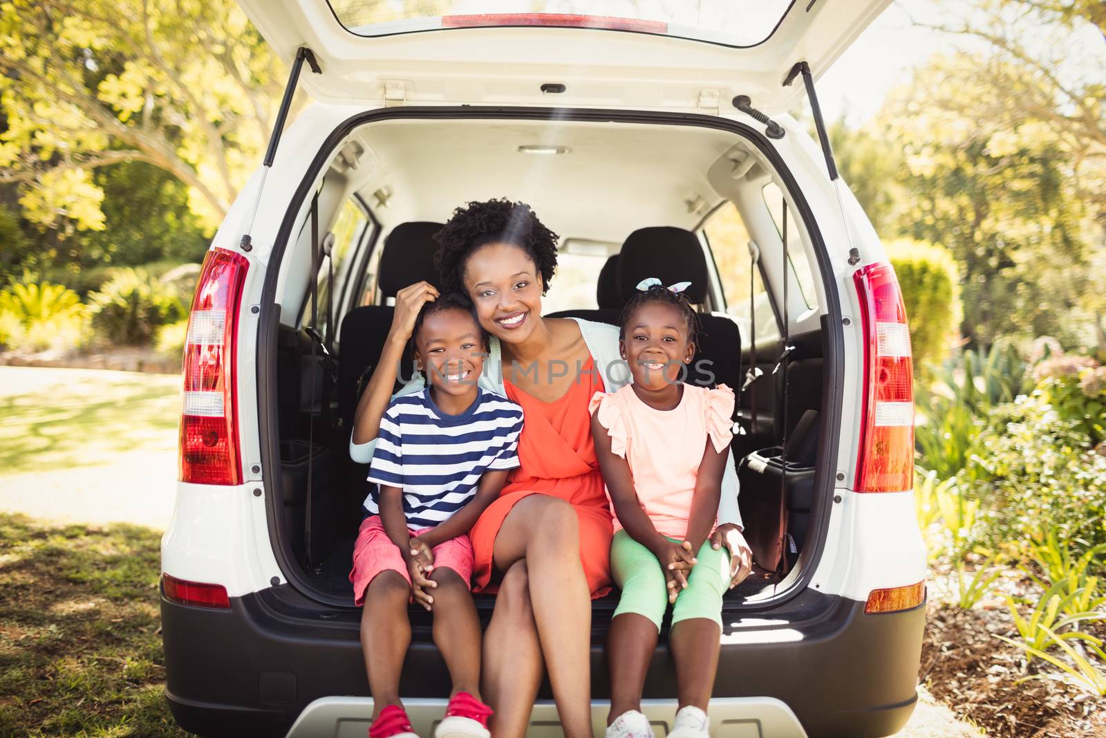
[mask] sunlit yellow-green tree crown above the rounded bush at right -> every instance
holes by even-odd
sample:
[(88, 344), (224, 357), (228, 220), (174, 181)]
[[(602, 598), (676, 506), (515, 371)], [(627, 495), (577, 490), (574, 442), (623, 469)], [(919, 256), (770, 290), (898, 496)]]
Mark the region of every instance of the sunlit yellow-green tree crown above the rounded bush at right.
[[(1039, 73), (1031, 56), (935, 58), (888, 95), (877, 121), (836, 136), (845, 179), (880, 237), (952, 253), (959, 332), (977, 345), (1043, 333), (1078, 345), (1106, 313), (1092, 261), (1106, 205), (1094, 154), (1106, 97), (1099, 84), (1072, 101), (1085, 115), (1060, 114), (1060, 91), (1042, 89), (1055, 76)], [(1057, 129), (1083, 125), (1078, 146)], [(1073, 177), (1077, 168), (1085, 176)]]

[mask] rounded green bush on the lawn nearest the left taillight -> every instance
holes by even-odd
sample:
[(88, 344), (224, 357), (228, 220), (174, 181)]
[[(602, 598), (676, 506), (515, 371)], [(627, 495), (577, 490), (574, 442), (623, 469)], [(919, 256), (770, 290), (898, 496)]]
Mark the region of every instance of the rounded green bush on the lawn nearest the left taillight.
[(175, 290), (164, 287), (143, 269), (124, 269), (88, 295), (92, 326), (109, 343), (148, 343), (161, 325), (187, 314)]

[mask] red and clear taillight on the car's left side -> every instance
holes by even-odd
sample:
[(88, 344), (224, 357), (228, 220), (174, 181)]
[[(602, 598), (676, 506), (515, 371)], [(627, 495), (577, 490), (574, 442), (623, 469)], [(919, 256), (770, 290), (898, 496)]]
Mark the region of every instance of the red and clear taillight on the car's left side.
[(226, 249), (204, 259), (185, 339), (180, 481), (238, 485), (242, 479), (234, 385), (238, 308), (249, 262)]

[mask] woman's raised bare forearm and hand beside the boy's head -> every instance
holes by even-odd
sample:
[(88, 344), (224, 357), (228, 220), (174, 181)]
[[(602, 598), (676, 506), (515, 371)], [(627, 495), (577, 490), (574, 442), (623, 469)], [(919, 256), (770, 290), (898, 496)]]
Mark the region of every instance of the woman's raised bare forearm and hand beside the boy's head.
[(422, 305), (438, 299), (438, 290), (429, 282), (416, 282), (396, 294), (396, 312), (392, 316), (392, 328), (384, 340), (380, 361), (373, 370), (368, 386), (357, 402), (353, 419), (353, 443), (364, 444), (376, 438), (380, 429), (380, 416), (388, 407), (392, 387), (396, 383), (396, 371), (404, 355), (404, 346), (411, 337), (415, 319)]

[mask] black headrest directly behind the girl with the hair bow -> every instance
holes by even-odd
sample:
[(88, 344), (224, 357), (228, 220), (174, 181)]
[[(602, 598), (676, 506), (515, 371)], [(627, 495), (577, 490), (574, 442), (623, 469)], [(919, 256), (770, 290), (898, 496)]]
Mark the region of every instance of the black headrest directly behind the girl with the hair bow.
[(618, 259), (618, 297), (629, 300), (647, 277), (661, 282), (691, 282), (684, 294), (695, 304), (707, 301), (707, 256), (696, 235), (682, 228), (638, 228), (626, 238)]

